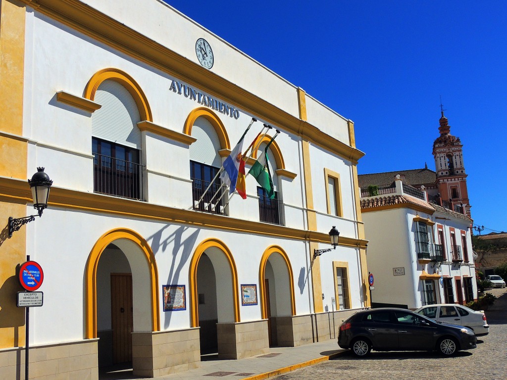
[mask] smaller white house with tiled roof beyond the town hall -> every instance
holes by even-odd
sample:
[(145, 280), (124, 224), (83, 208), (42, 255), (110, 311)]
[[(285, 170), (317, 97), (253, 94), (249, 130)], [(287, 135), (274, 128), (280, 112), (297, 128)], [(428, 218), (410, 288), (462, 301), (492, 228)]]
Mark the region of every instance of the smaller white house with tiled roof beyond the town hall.
[(428, 203), (425, 191), (399, 177), (391, 193), (361, 198), (374, 276), (372, 307), (415, 310), (476, 300), (472, 219)]

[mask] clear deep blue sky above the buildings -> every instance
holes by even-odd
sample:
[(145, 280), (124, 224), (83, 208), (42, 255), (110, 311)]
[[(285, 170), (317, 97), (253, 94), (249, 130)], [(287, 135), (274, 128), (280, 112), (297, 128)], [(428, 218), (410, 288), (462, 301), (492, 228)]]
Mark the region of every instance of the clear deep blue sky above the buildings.
[(434, 170), (442, 97), (474, 224), (507, 232), (507, 2), (166, 2), (353, 120), (359, 174)]

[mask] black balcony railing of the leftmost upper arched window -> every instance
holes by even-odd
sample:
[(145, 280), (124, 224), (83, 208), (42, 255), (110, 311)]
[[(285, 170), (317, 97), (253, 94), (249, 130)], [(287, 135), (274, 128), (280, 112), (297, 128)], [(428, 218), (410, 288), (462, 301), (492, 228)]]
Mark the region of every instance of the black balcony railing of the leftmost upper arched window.
[(140, 164), (93, 154), (93, 191), (95, 193), (142, 200)]

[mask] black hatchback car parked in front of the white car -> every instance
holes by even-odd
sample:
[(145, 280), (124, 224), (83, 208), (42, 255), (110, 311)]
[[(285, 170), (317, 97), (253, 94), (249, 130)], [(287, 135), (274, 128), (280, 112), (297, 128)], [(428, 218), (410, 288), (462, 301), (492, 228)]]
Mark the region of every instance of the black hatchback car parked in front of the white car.
[(382, 308), (355, 313), (340, 326), (338, 345), (358, 357), (375, 351), (439, 351), (444, 356), (477, 347), (474, 331), (437, 323), (406, 309)]

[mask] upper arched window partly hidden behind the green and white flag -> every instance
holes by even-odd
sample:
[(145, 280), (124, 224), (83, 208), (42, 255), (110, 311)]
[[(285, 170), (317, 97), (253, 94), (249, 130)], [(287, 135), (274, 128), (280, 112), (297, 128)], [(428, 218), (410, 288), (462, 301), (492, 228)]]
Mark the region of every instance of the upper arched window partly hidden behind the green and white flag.
[[(257, 157), (261, 157), (266, 150), (267, 142), (262, 142), (259, 145), (257, 151)], [(275, 192), (275, 198), (270, 199), (266, 189), (261, 186), (257, 186), (257, 195), (259, 197), (259, 216), (260, 220), (268, 223), (283, 224), (282, 222), (282, 197), (279, 186), (278, 175), (276, 174), (276, 160), (271, 148), (268, 147), (268, 168), (271, 178), (273, 180), (273, 189)]]

